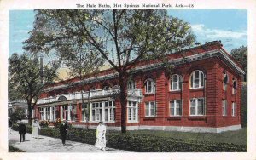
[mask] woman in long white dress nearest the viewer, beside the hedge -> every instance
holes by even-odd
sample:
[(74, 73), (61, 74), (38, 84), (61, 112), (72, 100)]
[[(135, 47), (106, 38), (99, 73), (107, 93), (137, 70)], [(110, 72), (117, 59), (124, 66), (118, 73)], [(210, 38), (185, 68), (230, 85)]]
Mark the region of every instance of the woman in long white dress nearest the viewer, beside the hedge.
[(106, 126), (101, 121), (96, 129), (96, 148), (106, 151)]

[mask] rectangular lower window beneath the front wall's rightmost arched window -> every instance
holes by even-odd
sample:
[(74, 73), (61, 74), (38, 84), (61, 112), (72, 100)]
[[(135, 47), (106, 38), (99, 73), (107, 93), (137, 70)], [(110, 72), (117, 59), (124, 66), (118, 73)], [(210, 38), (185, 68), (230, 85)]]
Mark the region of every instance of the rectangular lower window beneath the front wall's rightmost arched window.
[(190, 100), (190, 116), (203, 116), (205, 115), (204, 99), (193, 98)]

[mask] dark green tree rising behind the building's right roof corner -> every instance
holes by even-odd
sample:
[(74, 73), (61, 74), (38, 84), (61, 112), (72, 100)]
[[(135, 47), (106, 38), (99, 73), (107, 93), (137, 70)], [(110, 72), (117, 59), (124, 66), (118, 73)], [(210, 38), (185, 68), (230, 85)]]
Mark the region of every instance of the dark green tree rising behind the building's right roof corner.
[(247, 81), (247, 46), (240, 46), (238, 49), (232, 49), (230, 54), (241, 65), (243, 71), (245, 71), (244, 81)]

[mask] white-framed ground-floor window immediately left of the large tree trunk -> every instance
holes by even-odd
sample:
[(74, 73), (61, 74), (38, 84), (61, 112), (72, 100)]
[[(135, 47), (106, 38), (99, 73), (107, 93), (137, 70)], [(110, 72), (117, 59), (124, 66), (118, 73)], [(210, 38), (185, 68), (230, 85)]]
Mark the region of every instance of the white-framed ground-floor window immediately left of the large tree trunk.
[(105, 101), (105, 122), (113, 122), (115, 120), (115, 103), (114, 101)]

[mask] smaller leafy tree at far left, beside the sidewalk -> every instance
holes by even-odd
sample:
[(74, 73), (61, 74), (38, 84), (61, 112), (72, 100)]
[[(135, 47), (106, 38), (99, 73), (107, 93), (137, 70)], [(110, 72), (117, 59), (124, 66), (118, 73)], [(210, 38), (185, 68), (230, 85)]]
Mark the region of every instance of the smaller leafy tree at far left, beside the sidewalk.
[(32, 109), (36, 106), (38, 95), (46, 85), (54, 82), (58, 64), (52, 62), (50, 66), (44, 66), (43, 76), (37, 57), (12, 54), (9, 58), (9, 93), (16, 92), (20, 98), (26, 100), (30, 124), (32, 124)]

